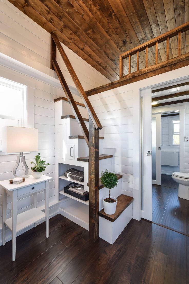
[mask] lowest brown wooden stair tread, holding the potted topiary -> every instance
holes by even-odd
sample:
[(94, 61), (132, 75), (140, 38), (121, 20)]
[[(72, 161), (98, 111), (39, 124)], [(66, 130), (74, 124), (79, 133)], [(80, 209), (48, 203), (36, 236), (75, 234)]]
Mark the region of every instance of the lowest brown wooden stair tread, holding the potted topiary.
[(99, 216), (105, 218), (111, 222), (114, 222), (123, 211), (133, 202), (133, 197), (121, 194), (117, 197), (117, 206), (115, 214), (108, 215), (104, 212), (104, 208), (99, 212)]

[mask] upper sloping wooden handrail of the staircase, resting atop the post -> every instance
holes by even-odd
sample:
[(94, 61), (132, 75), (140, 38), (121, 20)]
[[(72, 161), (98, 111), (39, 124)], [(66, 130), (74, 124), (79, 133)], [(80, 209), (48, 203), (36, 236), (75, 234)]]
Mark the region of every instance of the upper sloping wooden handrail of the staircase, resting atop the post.
[(88, 97), (87, 97), (87, 95), (86, 95), (86, 93), (85, 93), (85, 91), (84, 91), (84, 89), (83, 89), (83, 87), (82, 87), (82, 85), (81, 85), (71, 63), (70, 63), (70, 61), (69, 61), (69, 59), (68, 59), (62, 45), (60, 44), (58, 37), (53, 32), (51, 33), (51, 37), (52, 37), (56, 47), (58, 48), (58, 50), (60, 52), (60, 55), (61, 55), (65, 65), (66, 65), (66, 67), (69, 71), (69, 74), (71, 75), (73, 82), (75, 83), (75, 86), (76, 86), (76, 88), (77, 88), (77, 90), (78, 90), (78, 92), (79, 92), (79, 94), (80, 94), (80, 96), (83, 100), (83, 103), (84, 103), (84, 105), (85, 105), (85, 107), (86, 107), (86, 109), (87, 109), (87, 111), (88, 111), (88, 113), (89, 113), (89, 115), (92, 119), (92, 122), (95, 126), (95, 129), (102, 129), (102, 125), (101, 125), (101, 123), (100, 123), (100, 121), (99, 121), (99, 119), (98, 119), (98, 117), (97, 117), (97, 115), (96, 115), (96, 113), (95, 113), (95, 111), (94, 111), (94, 109), (93, 109), (93, 107), (92, 107), (92, 105), (91, 105), (91, 103), (90, 103), (90, 101), (89, 101), (89, 99), (88, 99)]

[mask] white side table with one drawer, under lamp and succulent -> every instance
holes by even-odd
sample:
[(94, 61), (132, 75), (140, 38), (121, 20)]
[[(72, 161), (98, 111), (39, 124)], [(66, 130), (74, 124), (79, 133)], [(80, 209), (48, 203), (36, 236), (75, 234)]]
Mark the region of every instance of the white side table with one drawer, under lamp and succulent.
[[(51, 177), (42, 176), (39, 179), (30, 176), (26, 178), (23, 183), (10, 184), (9, 179), (0, 181), (0, 187), (3, 188), (3, 245), (5, 245), (5, 231), (6, 225), (12, 231), (12, 261), (16, 259), (16, 233), (37, 222), (46, 220), (46, 237), (48, 238), (48, 182), (52, 180)], [(45, 213), (37, 208), (37, 192), (43, 191), (45, 193)], [(12, 218), (7, 219), (7, 194), (12, 197)], [(34, 208), (22, 212), (17, 215), (17, 197), (24, 195), (34, 195)]]

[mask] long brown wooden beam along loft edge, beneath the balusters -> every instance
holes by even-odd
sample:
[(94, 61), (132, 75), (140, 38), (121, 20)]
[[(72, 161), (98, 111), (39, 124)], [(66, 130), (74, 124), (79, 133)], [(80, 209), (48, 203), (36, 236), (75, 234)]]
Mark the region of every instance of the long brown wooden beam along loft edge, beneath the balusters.
[(115, 82), (108, 83), (106, 85), (91, 89), (86, 91), (87, 96), (92, 96), (98, 93), (102, 93), (114, 88), (118, 88), (124, 85), (128, 85), (130, 83), (143, 80), (146, 78), (150, 78), (152, 76), (156, 76), (165, 72), (169, 72), (171, 70), (175, 70), (181, 68), (183, 66), (189, 65), (189, 54), (184, 54), (176, 58), (169, 59), (167, 63), (161, 62), (154, 66), (150, 66), (143, 70), (139, 70), (135, 73), (128, 74), (127, 76), (117, 80)]

